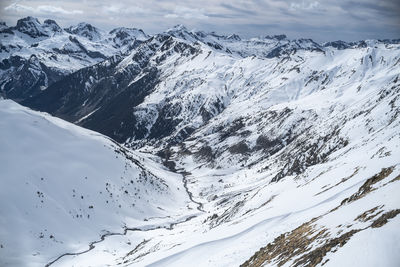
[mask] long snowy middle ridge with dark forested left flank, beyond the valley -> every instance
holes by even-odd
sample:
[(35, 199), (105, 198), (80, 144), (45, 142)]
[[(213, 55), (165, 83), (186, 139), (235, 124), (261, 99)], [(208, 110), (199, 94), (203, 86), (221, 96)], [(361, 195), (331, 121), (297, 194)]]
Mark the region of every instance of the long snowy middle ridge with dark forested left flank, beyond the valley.
[[(275, 38), (264, 48), (268, 54), (284, 47), (275, 56), (243, 57), (190, 41), (187, 31), (184, 39), (175, 35), (156, 35), (129, 55), (82, 69), (24, 104), (140, 147), (181, 142), (220, 113), (230, 123), (310, 95), (346, 102), (370, 83), (379, 89), (398, 84), (398, 44), (292, 50), (299, 40), (281, 45), (284, 39)], [(243, 42), (236, 46), (246, 50)]]

